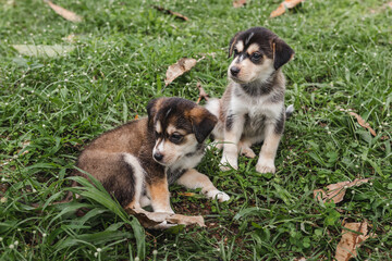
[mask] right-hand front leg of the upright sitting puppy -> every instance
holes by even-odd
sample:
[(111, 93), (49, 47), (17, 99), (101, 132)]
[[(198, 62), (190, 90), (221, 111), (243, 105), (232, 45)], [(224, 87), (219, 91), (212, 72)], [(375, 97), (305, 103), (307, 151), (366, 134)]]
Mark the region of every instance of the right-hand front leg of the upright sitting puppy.
[(274, 124), (265, 126), (265, 140), (261, 147), (259, 159), (256, 164), (256, 171), (259, 173), (274, 173), (274, 158), (279, 147), (281, 132), (275, 132)]

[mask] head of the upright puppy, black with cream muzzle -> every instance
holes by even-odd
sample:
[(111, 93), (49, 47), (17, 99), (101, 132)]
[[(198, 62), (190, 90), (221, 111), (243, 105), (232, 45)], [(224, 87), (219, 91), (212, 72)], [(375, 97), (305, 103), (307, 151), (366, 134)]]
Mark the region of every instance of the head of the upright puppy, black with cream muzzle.
[(274, 71), (293, 58), (294, 51), (269, 29), (254, 27), (238, 32), (231, 39), (229, 58), (233, 54), (229, 77), (238, 84), (247, 84), (267, 80)]

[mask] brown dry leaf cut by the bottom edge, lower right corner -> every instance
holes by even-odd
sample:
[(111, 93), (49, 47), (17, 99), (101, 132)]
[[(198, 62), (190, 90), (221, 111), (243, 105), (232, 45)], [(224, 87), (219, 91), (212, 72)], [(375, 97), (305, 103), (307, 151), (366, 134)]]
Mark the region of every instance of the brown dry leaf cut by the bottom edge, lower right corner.
[[(368, 239), (368, 223), (346, 223), (345, 228), (342, 229), (342, 238), (336, 247), (335, 259), (338, 261), (348, 261), (351, 258), (357, 256), (356, 249), (359, 248), (360, 244)], [(355, 231), (357, 233), (351, 232)]]

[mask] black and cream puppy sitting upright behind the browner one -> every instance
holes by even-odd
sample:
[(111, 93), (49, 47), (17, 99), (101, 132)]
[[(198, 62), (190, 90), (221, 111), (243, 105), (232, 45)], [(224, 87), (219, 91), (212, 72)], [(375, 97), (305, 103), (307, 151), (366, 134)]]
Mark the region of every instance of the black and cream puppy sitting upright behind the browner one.
[(237, 33), (230, 41), (229, 86), (221, 99), (211, 99), (206, 108), (218, 119), (212, 134), (223, 141), (221, 169), (237, 169), (237, 156), (255, 158), (250, 149), (261, 142), (256, 165), (260, 173), (274, 173), (274, 158), (283, 134), (284, 121), (293, 112), (285, 110), (285, 78), (282, 65), (294, 51), (275, 34), (254, 27)]

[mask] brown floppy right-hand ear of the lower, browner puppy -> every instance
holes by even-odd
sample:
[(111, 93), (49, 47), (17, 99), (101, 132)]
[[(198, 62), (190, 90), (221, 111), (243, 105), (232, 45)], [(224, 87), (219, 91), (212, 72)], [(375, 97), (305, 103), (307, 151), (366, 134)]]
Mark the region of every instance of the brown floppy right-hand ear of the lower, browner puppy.
[(218, 119), (207, 109), (199, 105), (191, 110), (189, 116), (197, 142), (201, 144), (212, 132)]

